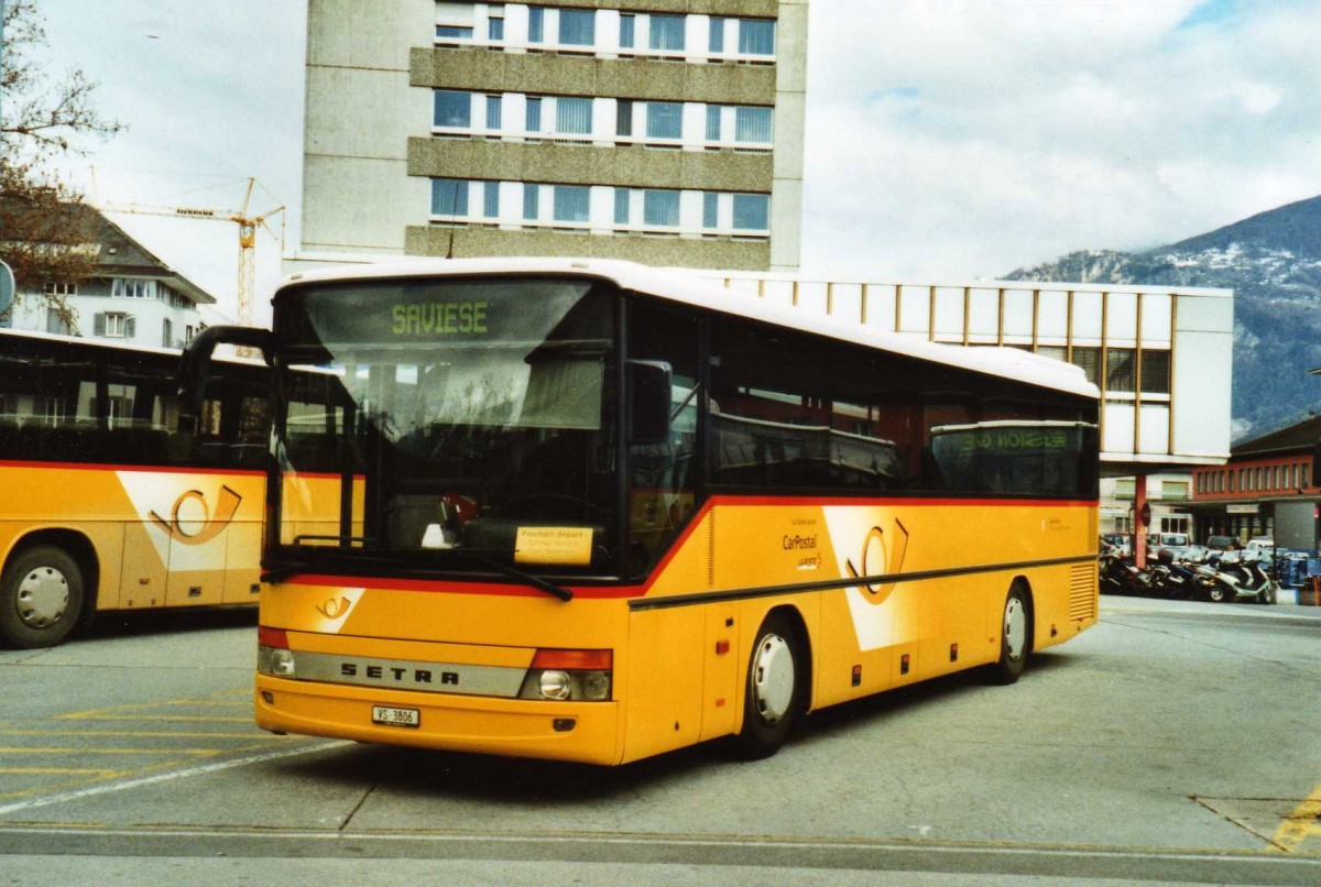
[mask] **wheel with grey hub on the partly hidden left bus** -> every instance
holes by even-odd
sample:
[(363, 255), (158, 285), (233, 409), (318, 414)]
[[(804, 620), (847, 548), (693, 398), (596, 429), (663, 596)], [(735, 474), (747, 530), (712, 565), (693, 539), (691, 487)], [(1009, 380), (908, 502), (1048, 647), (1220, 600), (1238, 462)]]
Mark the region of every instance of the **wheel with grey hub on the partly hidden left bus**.
[(82, 569), (54, 545), (20, 552), (0, 574), (0, 638), (12, 647), (54, 647), (82, 611)]

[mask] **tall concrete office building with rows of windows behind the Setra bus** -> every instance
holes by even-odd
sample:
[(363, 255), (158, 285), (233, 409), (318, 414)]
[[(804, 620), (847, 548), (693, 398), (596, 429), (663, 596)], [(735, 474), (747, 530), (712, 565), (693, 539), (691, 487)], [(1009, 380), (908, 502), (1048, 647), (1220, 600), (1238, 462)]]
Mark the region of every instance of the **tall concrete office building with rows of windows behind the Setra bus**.
[(793, 271), (807, 0), (309, 0), (304, 253)]

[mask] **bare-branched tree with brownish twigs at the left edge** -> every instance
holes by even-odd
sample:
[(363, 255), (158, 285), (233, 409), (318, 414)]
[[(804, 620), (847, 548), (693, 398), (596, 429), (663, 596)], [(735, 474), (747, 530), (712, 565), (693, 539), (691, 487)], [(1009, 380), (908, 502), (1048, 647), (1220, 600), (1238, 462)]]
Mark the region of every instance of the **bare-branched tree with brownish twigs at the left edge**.
[(96, 112), (96, 83), (81, 70), (50, 77), (46, 48), (38, 0), (4, 0), (0, 259), (13, 268), (20, 294), (36, 294), (69, 322), (65, 288), (48, 284), (77, 284), (95, 269), (95, 216), (52, 161), (83, 154), (124, 127)]

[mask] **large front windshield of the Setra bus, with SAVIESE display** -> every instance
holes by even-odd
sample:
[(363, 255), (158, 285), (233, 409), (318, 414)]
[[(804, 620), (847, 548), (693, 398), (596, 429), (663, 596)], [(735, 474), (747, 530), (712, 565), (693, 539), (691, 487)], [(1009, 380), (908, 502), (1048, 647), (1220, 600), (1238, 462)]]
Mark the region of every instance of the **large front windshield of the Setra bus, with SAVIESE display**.
[(601, 568), (618, 499), (613, 292), (462, 277), (285, 293), (281, 549)]

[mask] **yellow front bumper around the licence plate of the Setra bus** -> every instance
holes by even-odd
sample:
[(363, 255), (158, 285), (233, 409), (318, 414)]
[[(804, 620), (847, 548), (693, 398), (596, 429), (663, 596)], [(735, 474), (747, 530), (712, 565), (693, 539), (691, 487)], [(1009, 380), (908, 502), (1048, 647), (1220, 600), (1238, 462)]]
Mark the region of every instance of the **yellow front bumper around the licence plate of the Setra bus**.
[[(379, 709), (415, 726), (374, 722)], [(258, 674), (256, 726), (272, 733), (590, 764), (620, 763), (617, 702), (408, 693)], [(408, 715), (413, 717), (413, 715)]]

